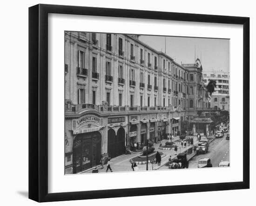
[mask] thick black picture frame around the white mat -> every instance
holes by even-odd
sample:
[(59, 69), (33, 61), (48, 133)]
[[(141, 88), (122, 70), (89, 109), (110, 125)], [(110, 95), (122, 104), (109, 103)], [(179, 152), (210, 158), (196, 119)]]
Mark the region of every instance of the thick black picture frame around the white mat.
[[(49, 13), (243, 25), (243, 181), (48, 193), (47, 45)], [(44, 4), (29, 8), (29, 199), (48, 202), (246, 188), (249, 188), (249, 18)]]

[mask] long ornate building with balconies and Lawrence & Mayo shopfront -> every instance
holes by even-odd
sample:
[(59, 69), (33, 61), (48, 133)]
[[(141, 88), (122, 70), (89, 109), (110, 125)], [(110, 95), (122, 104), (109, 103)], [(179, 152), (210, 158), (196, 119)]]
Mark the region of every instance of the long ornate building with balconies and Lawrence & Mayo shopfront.
[(177, 134), (203, 93), (199, 59), (179, 65), (138, 35), (65, 32), (65, 173)]

